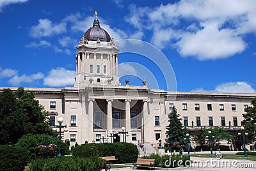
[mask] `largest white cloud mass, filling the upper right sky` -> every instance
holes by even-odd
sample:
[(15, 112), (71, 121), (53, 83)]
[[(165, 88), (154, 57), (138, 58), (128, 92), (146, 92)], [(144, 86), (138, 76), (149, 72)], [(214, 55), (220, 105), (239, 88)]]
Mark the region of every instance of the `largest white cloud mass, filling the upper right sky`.
[(256, 33), (254, 6), (253, 0), (181, 0), (154, 8), (131, 5), (125, 20), (143, 33), (152, 31), (151, 42), (159, 48), (175, 44), (184, 57), (220, 59), (243, 52), (244, 34)]

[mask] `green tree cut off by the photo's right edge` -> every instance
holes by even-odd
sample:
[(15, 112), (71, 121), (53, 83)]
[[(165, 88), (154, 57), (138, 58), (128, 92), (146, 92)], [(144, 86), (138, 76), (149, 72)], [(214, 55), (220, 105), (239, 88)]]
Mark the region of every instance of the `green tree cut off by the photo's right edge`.
[(256, 98), (252, 99), (252, 107), (244, 108), (245, 114), (243, 114), (244, 120), (241, 121), (241, 125), (244, 126), (244, 130), (248, 133), (246, 136), (246, 144), (255, 142), (256, 132)]

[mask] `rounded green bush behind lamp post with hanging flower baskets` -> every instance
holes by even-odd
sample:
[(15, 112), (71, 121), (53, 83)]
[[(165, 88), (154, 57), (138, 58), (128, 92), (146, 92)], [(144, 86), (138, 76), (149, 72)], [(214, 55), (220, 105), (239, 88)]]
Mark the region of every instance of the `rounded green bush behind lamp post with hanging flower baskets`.
[[(25, 147), (29, 150), (29, 158), (35, 159), (35, 158), (45, 158), (46, 157), (46, 151), (40, 152), (38, 151), (38, 145), (44, 144), (47, 145), (47, 138), (48, 138), (48, 144), (55, 144), (57, 145), (57, 148), (54, 151), (47, 151), (48, 157), (54, 157), (58, 155), (58, 137), (53, 137), (45, 134), (36, 134), (33, 135), (31, 133), (24, 135), (22, 138), (19, 139), (19, 142), (15, 144), (15, 146), (19, 147)], [(61, 154), (69, 154), (69, 141), (61, 141)]]

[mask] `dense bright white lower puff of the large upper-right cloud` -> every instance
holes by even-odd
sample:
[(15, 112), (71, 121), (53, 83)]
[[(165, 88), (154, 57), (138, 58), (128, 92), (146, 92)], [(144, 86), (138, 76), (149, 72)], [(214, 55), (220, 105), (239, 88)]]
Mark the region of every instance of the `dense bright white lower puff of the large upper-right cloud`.
[(246, 43), (231, 29), (218, 29), (208, 24), (196, 33), (184, 33), (177, 42), (181, 56), (196, 56), (199, 60), (218, 59), (241, 53)]

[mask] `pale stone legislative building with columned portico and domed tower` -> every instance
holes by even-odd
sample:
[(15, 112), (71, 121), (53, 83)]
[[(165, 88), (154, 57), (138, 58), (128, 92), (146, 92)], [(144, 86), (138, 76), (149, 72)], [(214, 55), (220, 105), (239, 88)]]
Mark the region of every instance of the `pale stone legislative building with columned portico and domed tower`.
[[(68, 132), (61, 132), (70, 145), (84, 142), (132, 142), (157, 145), (166, 138), (168, 113), (173, 105), (182, 123), (193, 133), (220, 126), (238, 130), (244, 108), (255, 94), (171, 92), (141, 85), (121, 85), (118, 77), (118, 47), (95, 18), (76, 54), (74, 87), (29, 88), (49, 111), (51, 126), (63, 117)], [(4, 89), (8, 87), (0, 87)], [(17, 87), (10, 87), (17, 89)], [(122, 127), (123, 130), (121, 129)], [(123, 134), (118, 133), (122, 132)]]

